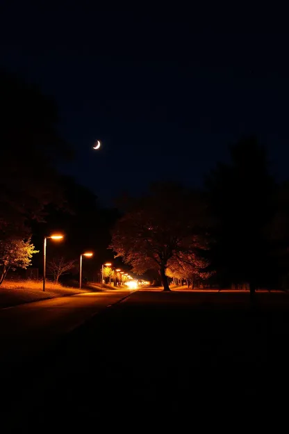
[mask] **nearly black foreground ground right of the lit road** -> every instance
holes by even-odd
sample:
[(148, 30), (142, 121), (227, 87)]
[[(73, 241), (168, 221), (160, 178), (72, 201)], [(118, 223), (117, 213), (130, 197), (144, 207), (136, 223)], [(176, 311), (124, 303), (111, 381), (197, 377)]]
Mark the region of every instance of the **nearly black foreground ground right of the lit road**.
[(288, 401), (288, 312), (282, 293), (257, 294), (251, 307), (249, 294), (137, 292), (2, 371), (1, 431), (176, 422), (183, 432), (187, 420), (188, 431), (206, 431), (230, 426), (234, 414), (237, 425), (256, 414), (266, 422)]

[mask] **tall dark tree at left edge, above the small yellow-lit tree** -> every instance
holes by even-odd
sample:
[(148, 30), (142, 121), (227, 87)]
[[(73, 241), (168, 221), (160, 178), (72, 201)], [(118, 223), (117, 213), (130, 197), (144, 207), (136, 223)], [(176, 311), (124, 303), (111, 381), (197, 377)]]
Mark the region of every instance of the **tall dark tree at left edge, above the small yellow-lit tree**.
[(57, 130), (56, 104), (0, 71), (0, 239), (27, 236), (50, 202), (62, 203), (55, 155), (69, 148)]

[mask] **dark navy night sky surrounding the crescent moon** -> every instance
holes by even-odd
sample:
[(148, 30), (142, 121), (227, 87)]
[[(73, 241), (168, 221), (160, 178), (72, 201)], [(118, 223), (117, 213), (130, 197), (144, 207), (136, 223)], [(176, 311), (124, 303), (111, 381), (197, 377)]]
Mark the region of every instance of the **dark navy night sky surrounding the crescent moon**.
[(0, 62), (55, 97), (60, 131), (76, 151), (61, 168), (103, 202), (155, 179), (200, 186), (245, 134), (258, 135), (272, 170), (287, 176), (281, 12), (60, 3), (2, 2)]

